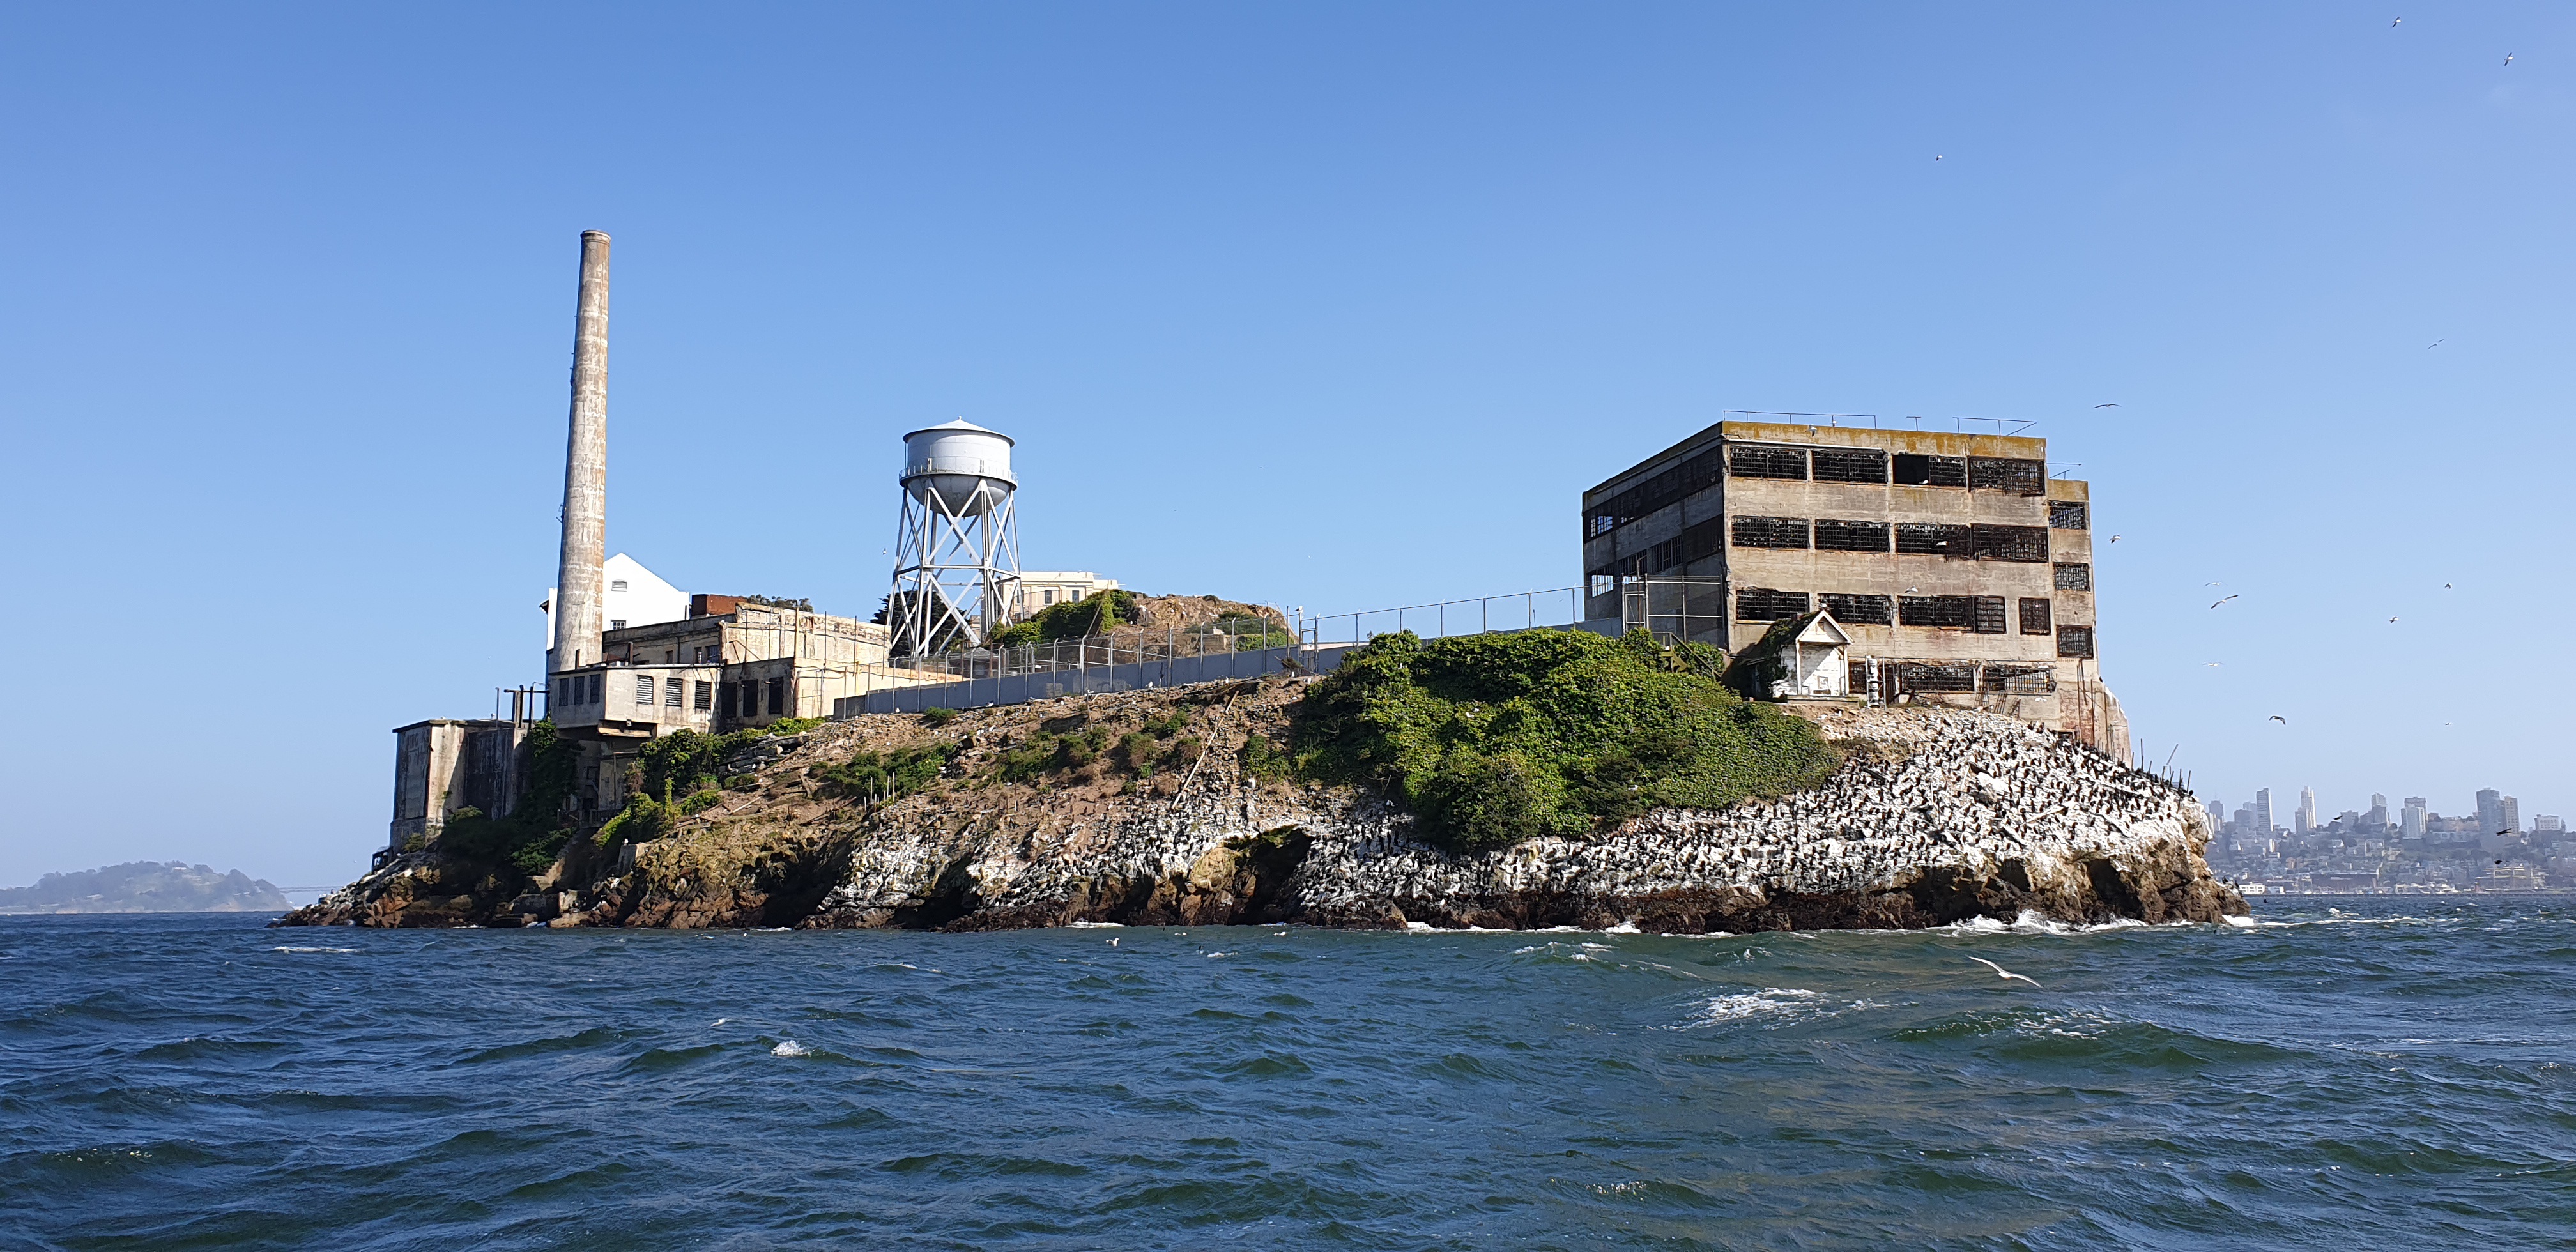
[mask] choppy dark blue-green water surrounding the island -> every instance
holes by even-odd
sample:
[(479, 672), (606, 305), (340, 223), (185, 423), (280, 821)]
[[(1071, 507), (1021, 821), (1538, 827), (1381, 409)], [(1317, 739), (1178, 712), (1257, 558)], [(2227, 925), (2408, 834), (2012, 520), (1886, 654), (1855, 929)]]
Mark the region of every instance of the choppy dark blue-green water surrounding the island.
[(0, 917), (0, 1247), (466, 1244), (2576, 1247), (2576, 902), (1736, 938)]

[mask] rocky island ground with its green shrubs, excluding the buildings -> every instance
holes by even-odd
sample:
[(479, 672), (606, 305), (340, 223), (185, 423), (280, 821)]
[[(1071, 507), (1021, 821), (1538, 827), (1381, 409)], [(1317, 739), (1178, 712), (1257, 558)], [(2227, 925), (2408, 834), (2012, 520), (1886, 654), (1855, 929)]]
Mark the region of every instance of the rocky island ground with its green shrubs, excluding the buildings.
[(1718, 649), (1643, 634), (1396, 634), (1324, 678), (683, 732), (636, 773), (641, 799), (595, 827), (459, 822), (281, 925), (1744, 933), (2246, 912), (2164, 778), (1994, 714), (1747, 701)]

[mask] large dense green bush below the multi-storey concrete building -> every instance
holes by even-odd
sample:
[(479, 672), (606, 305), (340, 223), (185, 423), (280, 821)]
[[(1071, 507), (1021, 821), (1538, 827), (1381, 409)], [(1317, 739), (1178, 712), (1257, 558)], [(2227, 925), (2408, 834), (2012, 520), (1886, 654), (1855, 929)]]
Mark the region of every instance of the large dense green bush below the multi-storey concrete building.
[(1723, 670), (1643, 631), (1386, 634), (1306, 693), (1296, 765), (1396, 796), (1453, 850), (1824, 783), (1839, 757), (1816, 726), (1728, 693)]

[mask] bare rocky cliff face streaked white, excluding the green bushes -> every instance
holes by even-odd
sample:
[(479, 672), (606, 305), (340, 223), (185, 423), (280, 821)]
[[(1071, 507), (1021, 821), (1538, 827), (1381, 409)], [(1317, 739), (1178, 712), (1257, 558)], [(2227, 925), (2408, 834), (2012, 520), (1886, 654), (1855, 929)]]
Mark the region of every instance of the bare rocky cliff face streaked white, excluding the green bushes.
[[(2244, 912), (2202, 860), (2208, 819), (2187, 791), (2002, 716), (1826, 714), (1824, 732), (1850, 760), (1821, 788), (1453, 855), (1414, 840), (1412, 819), (1383, 801), (1257, 778), (1244, 747), (1283, 739), (1296, 698), (1298, 683), (1270, 680), (987, 708), (938, 729), (855, 719), (809, 732), (760, 770), (755, 791), (636, 845), (631, 860), (577, 848), (541, 891), (502, 899), (422, 853), (291, 920), (1741, 933)], [(1103, 755), (1030, 775), (1028, 745), (1074, 726), (1157, 729), (1188, 750), (1164, 752), (1162, 768)], [(930, 793), (871, 806), (809, 778), (850, 752), (927, 737), (963, 739)], [(1255, 747), (1249, 763), (1260, 760)]]

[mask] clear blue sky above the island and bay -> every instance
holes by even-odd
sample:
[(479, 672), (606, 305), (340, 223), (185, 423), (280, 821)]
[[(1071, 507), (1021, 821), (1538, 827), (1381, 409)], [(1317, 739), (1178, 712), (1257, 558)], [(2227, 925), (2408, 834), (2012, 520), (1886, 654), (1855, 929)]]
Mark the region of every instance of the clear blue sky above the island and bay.
[(2205, 793), (2568, 811), (2576, 8), (2383, 8), (15, 5), (0, 884), (343, 881), (536, 678), (585, 227), (688, 590), (873, 611), (948, 417), (1030, 567), (1316, 611), (1569, 585), (1721, 410), (2017, 417)]

